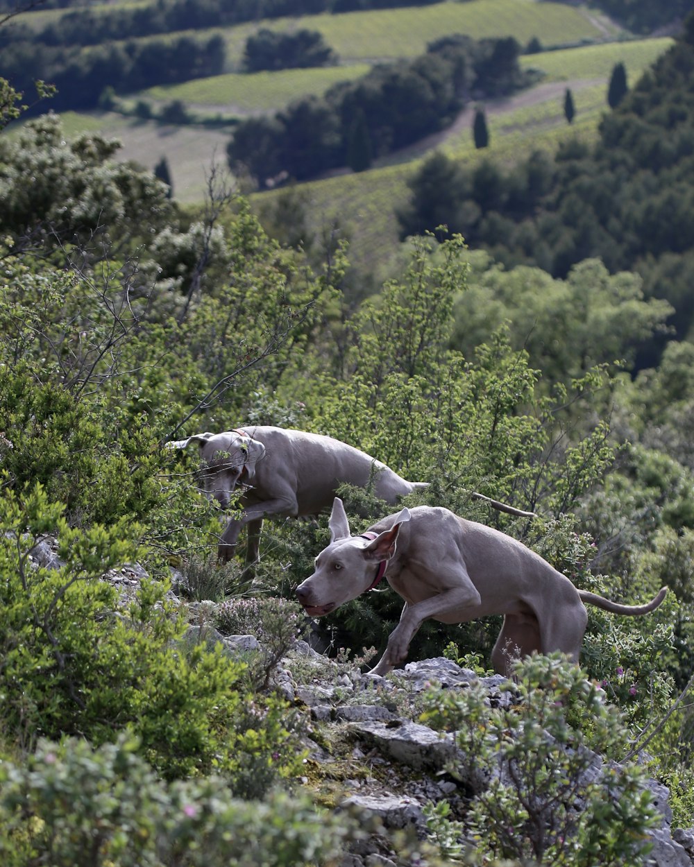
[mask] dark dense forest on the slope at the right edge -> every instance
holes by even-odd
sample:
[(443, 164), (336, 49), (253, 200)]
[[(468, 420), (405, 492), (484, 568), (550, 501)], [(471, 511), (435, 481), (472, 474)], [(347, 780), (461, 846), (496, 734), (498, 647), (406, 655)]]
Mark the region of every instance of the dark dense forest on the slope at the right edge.
[(691, 333), (694, 298), (694, 16), (683, 36), (619, 107), (599, 141), (569, 140), (553, 156), (514, 168), (491, 160), (464, 167), (435, 153), (410, 179), (399, 214), (403, 237), (437, 225), (493, 251), (507, 265), (536, 264), (566, 277), (586, 257), (610, 271), (636, 269), (648, 296), (675, 309)]

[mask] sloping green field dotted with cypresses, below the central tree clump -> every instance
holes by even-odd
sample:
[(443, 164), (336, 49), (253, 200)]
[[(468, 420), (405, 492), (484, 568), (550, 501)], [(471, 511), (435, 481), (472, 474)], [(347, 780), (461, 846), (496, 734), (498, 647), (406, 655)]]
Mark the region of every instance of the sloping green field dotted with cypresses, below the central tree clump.
[[(513, 165), (534, 149), (551, 152), (560, 141), (576, 135), (593, 140), (606, 110), (606, 85), (614, 62), (623, 60), (634, 81), (670, 45), (669, 39), (610, 43), (524, 57), (524, 65), (542, 69), (547, 78), (521, 95), (488, 104), (491, 147), (485, 153), (475, 151), (468, 109), (446, 133), (383, 160), (383, 166), (303, 185), (308, 225), (318, 232), (322, 223), (337, 220), (350, 238), (357, 266), (383, 277), (388, 257), (397, 251), (395, 212), (405, 204), (406, 181), (425, 153), (440, 148), (471, 166), (488, 156)], [(572, 88), (577, 106), (571, 127), (563, 111), (566, 88)], [(281, 197), (281, 191), (266, 192), (252, 200), (260, 207)]]

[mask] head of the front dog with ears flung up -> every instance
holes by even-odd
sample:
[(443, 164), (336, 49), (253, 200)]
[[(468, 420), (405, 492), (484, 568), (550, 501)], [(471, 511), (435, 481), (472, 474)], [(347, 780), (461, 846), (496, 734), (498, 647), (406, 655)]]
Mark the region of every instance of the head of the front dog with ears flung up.
[(395, 557), (397, 536), (406, 521), (409, 509), (398, 512), (390, 530), (374, 539), (351, 536), (343, 502), (336, 497), (328, 524), (331, 544), (316, 557), (314, 573), (297, 588), (298, 601), (306, 614), (312, 617), (330, 614), (369, 590), (379, 564)]

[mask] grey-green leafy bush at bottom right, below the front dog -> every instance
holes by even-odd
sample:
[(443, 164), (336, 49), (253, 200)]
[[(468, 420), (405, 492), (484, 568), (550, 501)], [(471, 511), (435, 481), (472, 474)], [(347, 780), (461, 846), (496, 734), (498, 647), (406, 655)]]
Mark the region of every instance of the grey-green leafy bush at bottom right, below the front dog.
[[(514, 676), (507, 688), (520, 701), (508, 707), (489, 707), (487, 689), (475, 683), (427, 695), (424, 718), (454, 732), (464, 755), (450, 772), (484, 780), (467, 822), (475, 864), (644, 863), (647, 831), (658, 818), (645, 770), (596, 756), (617, 757), (624, 749), (627, 730), (617, 709), (560, 655), (518, 662)], [(447, 816), (434, 818), (441, 827)]]

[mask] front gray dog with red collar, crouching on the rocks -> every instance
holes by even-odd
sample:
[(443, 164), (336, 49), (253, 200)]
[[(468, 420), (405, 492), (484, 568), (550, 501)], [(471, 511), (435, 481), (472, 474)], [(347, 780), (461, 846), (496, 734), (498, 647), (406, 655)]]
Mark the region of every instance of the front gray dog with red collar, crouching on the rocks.
[(621, 605), (577, 590), (516, 539), (428, 505), (403, 509), (352, 537), (342, 500), (336, 498), (329, 527), (331, 544), (316, 557), (313, 575), (297, 588), (308, 615), (329, 614), (373, 589), (382, 577), (405, 600), (400, 623), (372, 675), (385, 675), (404, 661), (425, 620), (466, 623), (492, 614), (504, 615), (492, 652), (500, 674), (508, 674), (509, 650), (521, 657), (559, 650), (578, 662), (588, 621), (584, 603), (637, 616), (658, 608), (667, 592), (664, 587), (645, 605)]

